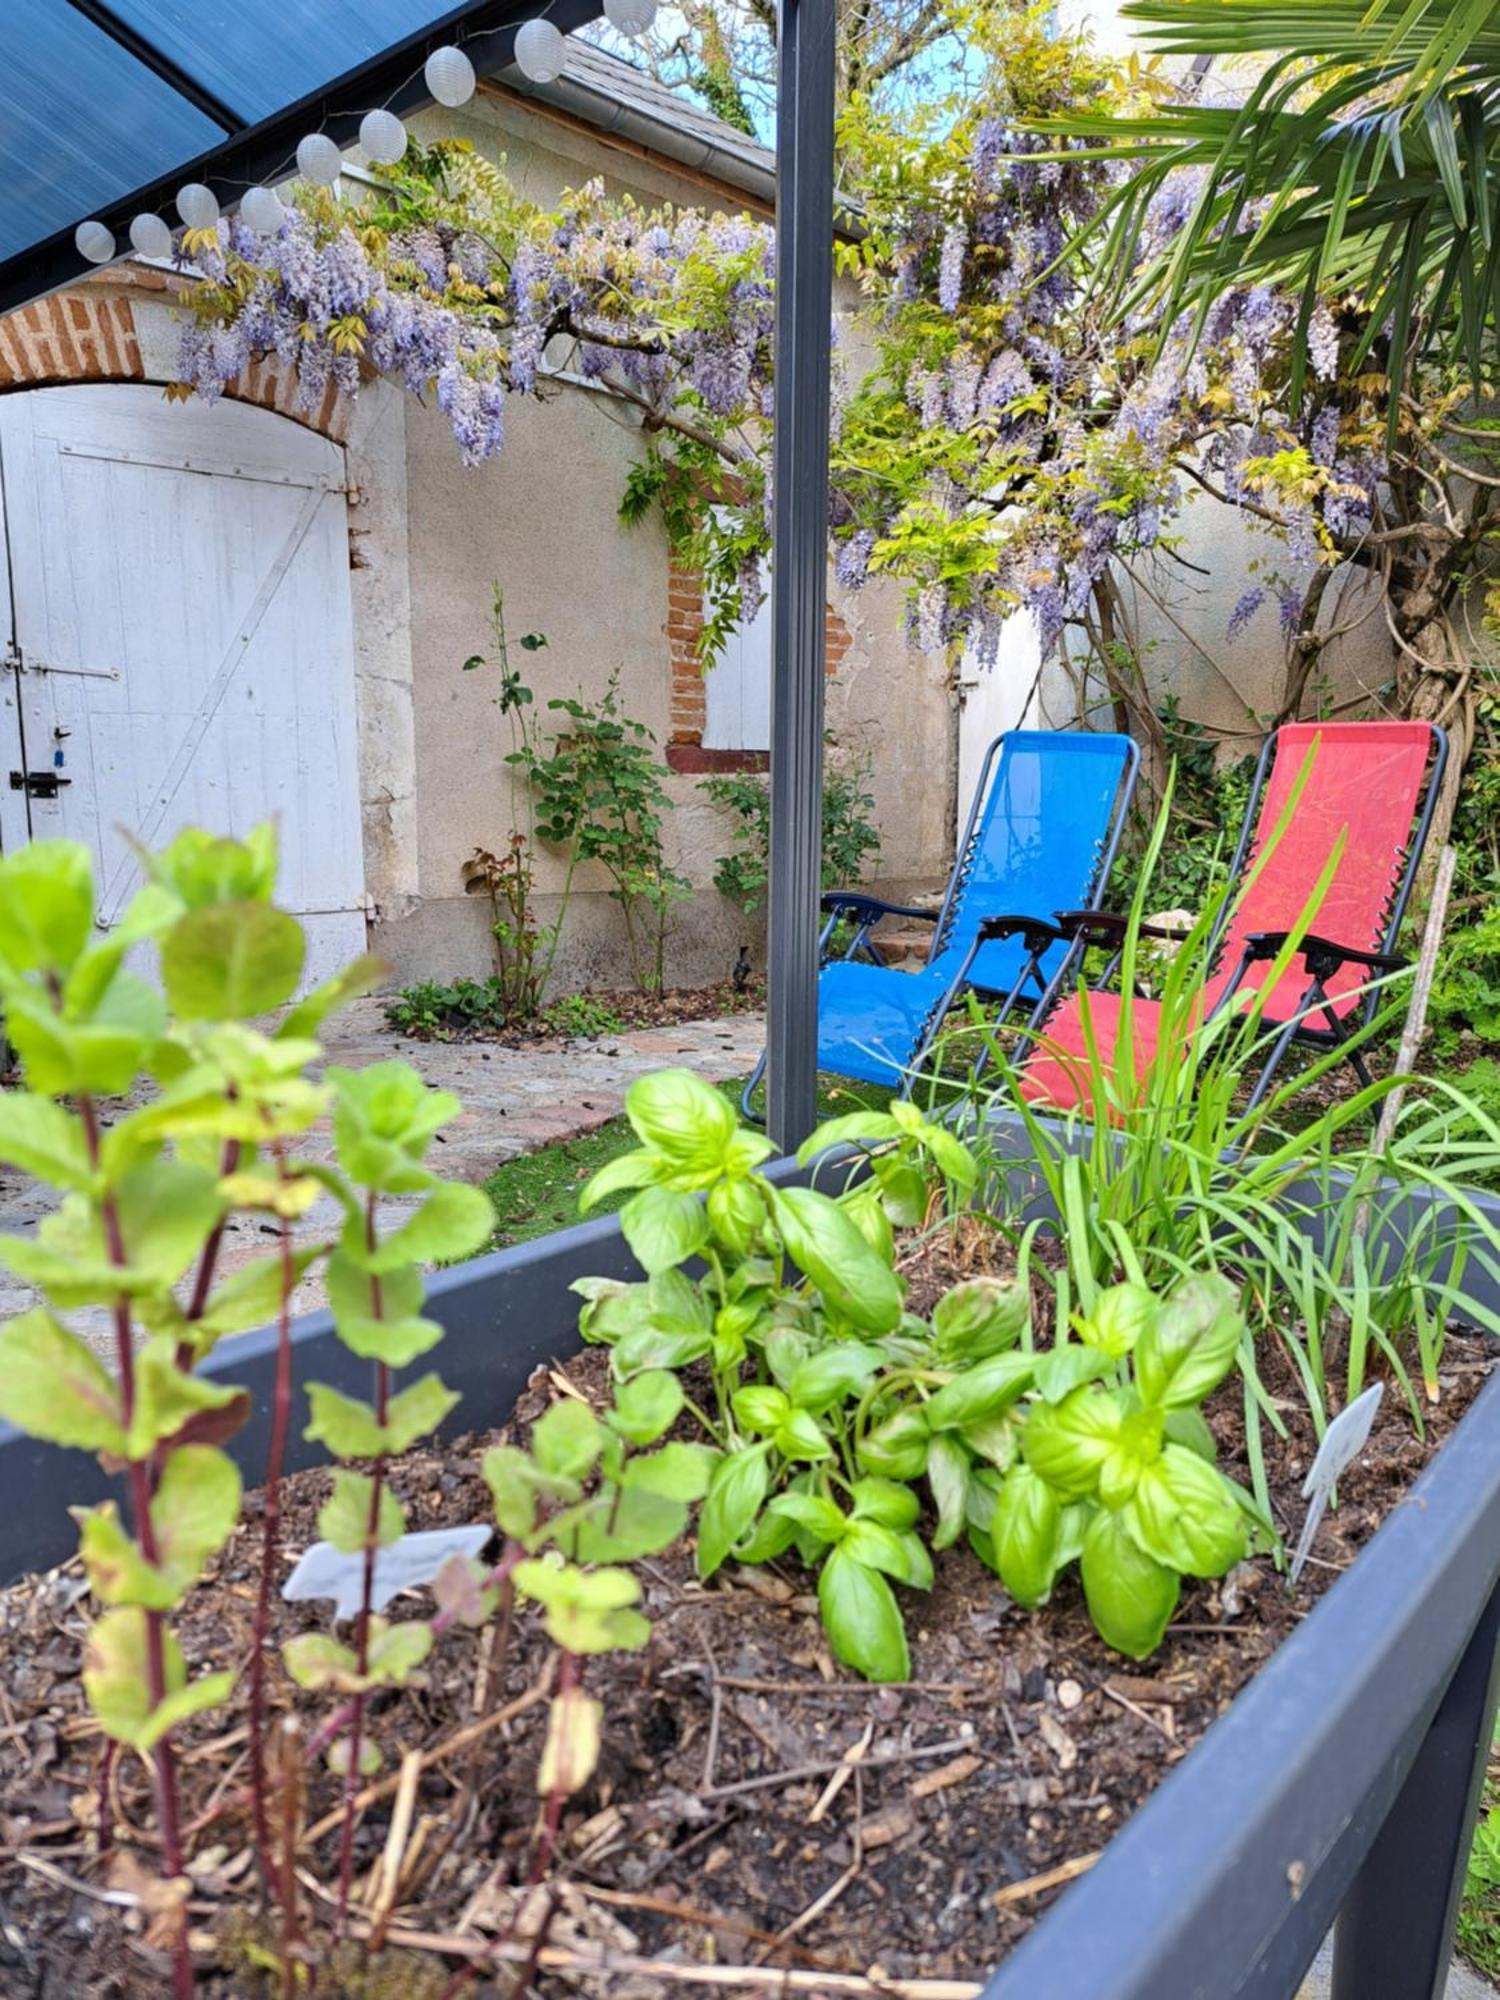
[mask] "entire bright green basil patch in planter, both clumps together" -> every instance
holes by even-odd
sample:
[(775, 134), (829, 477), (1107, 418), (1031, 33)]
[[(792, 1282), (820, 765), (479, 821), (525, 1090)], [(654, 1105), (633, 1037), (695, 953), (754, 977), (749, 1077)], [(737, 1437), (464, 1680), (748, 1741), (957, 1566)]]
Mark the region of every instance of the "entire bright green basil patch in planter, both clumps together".
[(772, 1144), (686, 1070), (632, 1084), (626, 1110), (640, 1144), (582, 1206), (628, 1190), (620, 1222), (646, 1278), (580, 1280), (580, 1324), (622, 1386), (706, 1372), (702, 1406), (682, 1402), (712, 1452), (700, 1576), (796, 1552), (834, 1654), (902, 1680), (894, 1586), (928, 1590), (934, 1552), (960, 1538), (1024, 1606), (1080, 1560), (1100, 1634), (1134, 1658), (1160, 1644), (1184, 1574), (1246, 1554), (1254, 1508), (1212, 1464), (1198, 1410), (1244, 1338), (1222, 1278), (1168, 1298), (1116, 1286), (1076, 1340), (1038, 1352), (1016, 1280), (970, 1278), (930, 1318), (906, 1308), (894, 1228), (924, 1220), (938, 1184), (952, 1198), (978, 1178), (914, 1106), (814, 1132), (804, 1160), (866, 1152), (836, 1196), (768, 1180)]

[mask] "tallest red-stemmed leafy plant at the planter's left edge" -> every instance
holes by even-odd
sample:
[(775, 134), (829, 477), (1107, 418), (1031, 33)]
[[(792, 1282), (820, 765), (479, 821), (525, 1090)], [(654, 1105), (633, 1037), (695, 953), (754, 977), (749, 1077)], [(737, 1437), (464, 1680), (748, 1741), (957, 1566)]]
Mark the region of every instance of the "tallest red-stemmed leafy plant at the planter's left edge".
[[(270, 828), (244, 842), (188, 830), (142, 856), (148, 880), (124, 918), (96, 928), (88, 850), (40, 840), (0, 860), (0, 1000), (24, 1086), (0, 1096), (0, 1158), (62, 1192), (32, 1236), (0, 1238), (0, 1260), (46, 1304), (0, 1330), (0, 1416), (52, 1444), (98, 1454), (128, 1512), (78, 1510), (80, 1554), (102, 1606), (84, 1642), (84, 1692), (112, 1758), (154, 1774), (162, 1864), (174, 1884), (166, 1932), (176, 1990), (192, 1990), (174, 1736), (224, 1702), (236, 1670), (190, 1678), (172, 1614), (238, 1520), (240, 1474), (222, 1444), (248, 1398), (196, 1374), (230, 1332), (280, 1312), (306, 1252), (288, 1220), (316, 1184), (286, 1148), (326, 1104), (304, 1070), (320, 1020), (360, 992), (360, 964), (294, 1006), (276, 1034), (242, 1016), (284, 1006), (300, 976), (300, 924), (270, 902)], [(160, 990), (126, 968), (154, 942)], [(102, 1106), (154, 1084), (106, 1124)], [(218, 1254), (232, 1216), (272, 1218), (272, 1256), (228, 1278)], [(114, 1370), (66, 1316), (104, 1306)], [(282, 1360), (286, 1340), (282, 1342)], [(266, 1572), (274, 1564), (276, 1476), (288, 1378), (278, 1366)], [(264, 1582), (258, 1632), (264, 1630)], [(250, 1664), (252, 1792), (266, 1864), (260, 1662)], [(110, 1790), (108, 1770), (100, 1796)], [(100, 1824), (108, 1844), (108, 1818)]]

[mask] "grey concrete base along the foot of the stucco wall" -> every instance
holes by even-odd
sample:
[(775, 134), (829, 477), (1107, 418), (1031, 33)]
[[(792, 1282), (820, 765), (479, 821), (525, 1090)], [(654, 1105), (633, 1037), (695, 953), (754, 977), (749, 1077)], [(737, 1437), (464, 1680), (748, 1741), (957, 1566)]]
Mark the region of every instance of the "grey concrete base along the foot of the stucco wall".
[[(942, 882), (902, 878), (880, 882), (874, 894), (890, 902), (932, 894)], [(556, 896), (538, 896), (538, 922), (556, 914)], [(668, 986), (714, 986), (730, 978), (740, 944), (764, 964), (764, 916), (746, 918), (714, 890), (678, 904), (666, 946)], [(378, 918), (370, 950), (390, 966), (392, 986), (416, 980), (484, 978), (492, 964), (490, 906), (482, 896), (428, 896), (404, 914)], [(568, 906), (568, 934), (552, 974), (552, 996), (630, 986), (630, 958), (618, 904), (600, 890), (580, 890)]]

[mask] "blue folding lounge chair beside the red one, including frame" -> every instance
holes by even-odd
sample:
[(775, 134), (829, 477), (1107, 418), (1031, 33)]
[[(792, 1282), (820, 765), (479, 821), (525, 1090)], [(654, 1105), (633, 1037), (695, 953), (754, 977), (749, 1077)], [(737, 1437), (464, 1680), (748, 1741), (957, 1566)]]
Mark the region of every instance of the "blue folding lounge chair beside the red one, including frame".
[[(912, 910), (856, 890), (822, 898), (828, 952), (840, 920), (854, 924), (842, 958), (818, 974), (818, 1068), (908, 1092), (958, 994), (1028, 1014), (1066, 946), (1052, 916), (1070, 898), (1094, 906), (1120, 844), (1140, 752), (1128, 736), (1010, 730), (984, 752), (968, 826), (942, 908)], [(934, 924), (928, 962), (898, 972), (876, 956), (870, 930), (886, 916)], [(1040, 920), (1040, 926), (1038, 926)], [(766, 1068), (744, 1088), (746, 1116)]]

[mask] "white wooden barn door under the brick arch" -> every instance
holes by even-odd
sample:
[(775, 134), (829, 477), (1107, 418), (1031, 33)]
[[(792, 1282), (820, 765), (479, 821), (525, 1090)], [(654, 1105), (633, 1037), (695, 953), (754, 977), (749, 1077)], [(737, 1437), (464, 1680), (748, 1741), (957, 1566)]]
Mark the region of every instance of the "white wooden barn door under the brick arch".
[(308, 980), (364, 950), (340, 448), (144, 384), (24, 390), (0, 396), (0, 506), (4, 846), (84, 840), (112, 922), (126, 832), (276, 818)]

